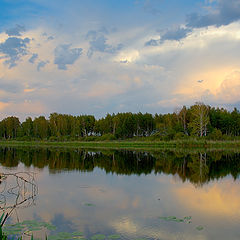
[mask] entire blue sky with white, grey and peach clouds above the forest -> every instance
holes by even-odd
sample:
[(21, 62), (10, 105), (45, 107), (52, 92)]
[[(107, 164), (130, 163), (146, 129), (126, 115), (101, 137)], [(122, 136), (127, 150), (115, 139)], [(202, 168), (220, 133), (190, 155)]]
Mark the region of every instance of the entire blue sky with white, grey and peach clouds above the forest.
[(0, 0), (0, 119), (240, 108), (240, 0)]

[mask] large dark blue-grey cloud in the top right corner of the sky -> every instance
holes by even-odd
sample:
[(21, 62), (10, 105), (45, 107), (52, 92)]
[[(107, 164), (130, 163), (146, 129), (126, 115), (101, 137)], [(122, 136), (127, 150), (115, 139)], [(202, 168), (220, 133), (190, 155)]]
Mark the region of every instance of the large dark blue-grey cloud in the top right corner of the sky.
[(206, 15), (192, 13), (187, 16), (186, 26), (202, 28), (208, 26), (220, 27), (240, 20), (240, 0), (217, 0)]

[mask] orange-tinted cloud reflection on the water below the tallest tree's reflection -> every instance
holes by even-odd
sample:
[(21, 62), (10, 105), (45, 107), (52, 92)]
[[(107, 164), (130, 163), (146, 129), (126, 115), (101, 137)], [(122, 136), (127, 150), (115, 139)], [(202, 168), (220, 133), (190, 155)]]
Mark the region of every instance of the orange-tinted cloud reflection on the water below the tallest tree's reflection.
[(184, 184), (174, 189), (174, 194), (184, 207), (199, 215), (217, 216), (240, 215), (239, 183), (231, 179), (213, 182), (203, 188)]

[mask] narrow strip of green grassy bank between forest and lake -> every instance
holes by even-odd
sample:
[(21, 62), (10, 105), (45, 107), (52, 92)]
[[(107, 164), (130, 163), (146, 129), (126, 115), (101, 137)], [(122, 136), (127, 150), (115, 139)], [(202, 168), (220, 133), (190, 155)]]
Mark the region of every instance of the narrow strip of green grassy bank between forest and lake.
[(102, 142), (50, 142), (50, 141), (0, 141), (0, 146), (35, 146), (68, 148), (112, 149), (176, 149), (176, 148), (240, 148), (240, 141), (176, 140), (176, 141), (102, 141)]

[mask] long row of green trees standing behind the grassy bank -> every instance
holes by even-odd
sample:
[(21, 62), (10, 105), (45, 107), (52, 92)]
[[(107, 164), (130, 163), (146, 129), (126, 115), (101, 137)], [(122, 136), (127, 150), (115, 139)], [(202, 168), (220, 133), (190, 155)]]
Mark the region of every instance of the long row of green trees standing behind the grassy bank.
[(173, 113), (117, 113), (101, 119), (93, 115), (73, 116), (51, 113), (25, 121), (15, 116), (0, 122), (1, 140), (104, 141), (121, 139), (175, 140), (240, 139), (240, 112), (197, 102)]

